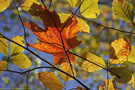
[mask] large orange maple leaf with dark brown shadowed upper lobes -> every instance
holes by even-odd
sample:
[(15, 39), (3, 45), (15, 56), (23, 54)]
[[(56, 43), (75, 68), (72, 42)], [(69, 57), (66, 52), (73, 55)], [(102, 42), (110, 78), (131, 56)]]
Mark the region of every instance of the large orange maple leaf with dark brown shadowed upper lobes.
[[(31, 21), (30, 23), (23, 23), (41, 41), (41, 43), (39, 44), (35, 43), (31, 45), (30, 43), (28, 43), (28, 45), (40, 51), (52, 54), (54, 56), (53, 62), (59, 62), (62, 59), (67, 59), (68, 57), (63, 48), (63, 44), (66, 50), (70, 50), (81, 43), (81, 41), (78, 41), (76, 39), (80, 29), (80, 27), (78, 26), (78, 22), (76, 18), (71, 15), (64, 23), (61, 23), (59, 15), (55, 11), (49, 11), (49, 14), (45, 7), (43, 7), (42, 9), (43, 10), (41, 10), (42, 13), (40, 14), (40, 18), (45, 25), (45, 29), (40, 28), (38, 25)], [(69, 53), (68, 55), (70, 60), (76, 63), (75, 56)], [(56, 63), (54, 65), (59, 64), (61, 63)]]

